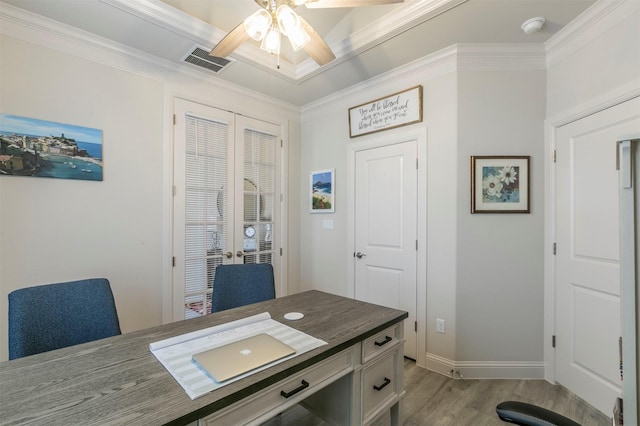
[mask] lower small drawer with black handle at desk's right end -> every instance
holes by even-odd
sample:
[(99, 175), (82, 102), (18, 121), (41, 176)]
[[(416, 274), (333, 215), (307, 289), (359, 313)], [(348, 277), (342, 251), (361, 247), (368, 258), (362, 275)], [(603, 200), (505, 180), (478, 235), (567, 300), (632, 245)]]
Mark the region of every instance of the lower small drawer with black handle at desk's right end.
[(362, 413), (364, 423), (397, 401), (402, 392), (396, 363), (400, 352), (396, 349), (365, 367), (362, 373)]

